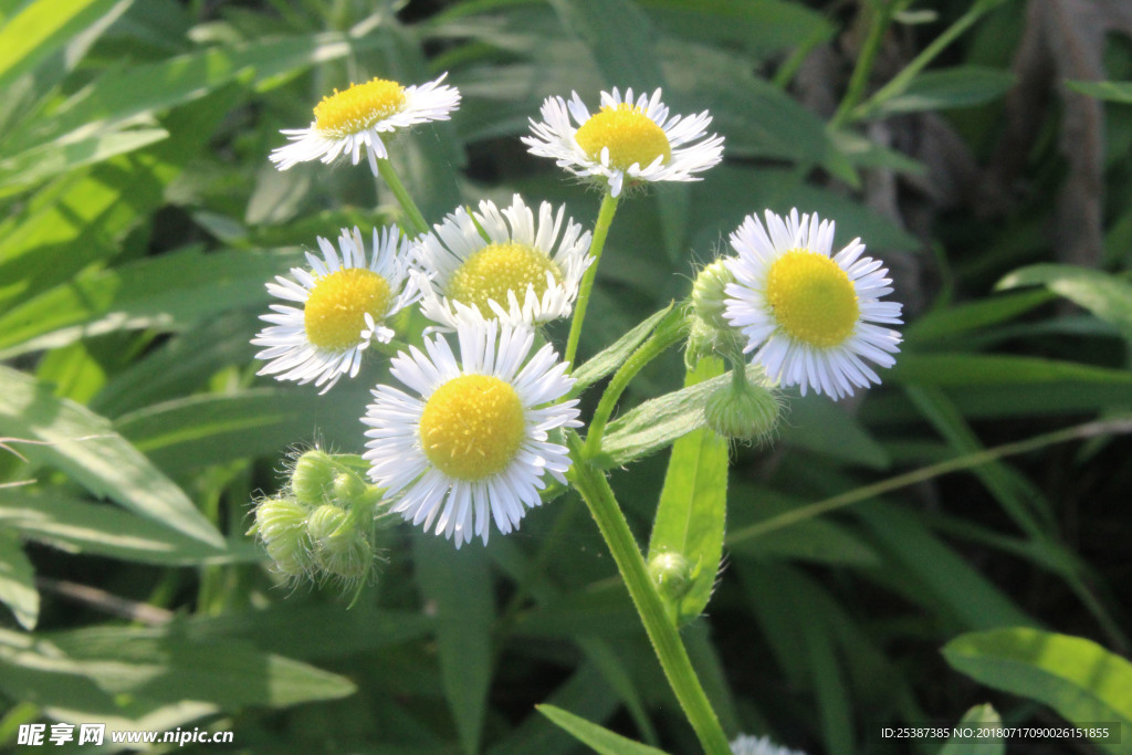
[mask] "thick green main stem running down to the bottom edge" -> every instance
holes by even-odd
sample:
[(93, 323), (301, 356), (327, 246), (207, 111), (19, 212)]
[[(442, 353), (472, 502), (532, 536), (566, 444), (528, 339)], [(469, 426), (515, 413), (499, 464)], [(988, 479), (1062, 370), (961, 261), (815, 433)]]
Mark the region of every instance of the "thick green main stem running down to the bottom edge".
[(712, 710), (707, 695), (700, 685), (679, 633), (669, 621), (664, 604), (649, 580), (644, 557), (641, 556), (641, 549), (633, 539), (625, 515), (617, 506), (606, 475), (585, 458), (577, 435), (569, 432), (567, 444), (574, 461), (569, 480), (582, 494), (582, 499), (590, 508), (590, 514), (598, 523), (598, 530), (601, 531), (601, 537), (617, 563), (668, 684), (676, 693), (676, 698), (684, 709), (696, 737), (700, 738), (704, 752), (707, 755), (730, 755), (731, 747), (727, 735), (723, 733), (715, 711)]

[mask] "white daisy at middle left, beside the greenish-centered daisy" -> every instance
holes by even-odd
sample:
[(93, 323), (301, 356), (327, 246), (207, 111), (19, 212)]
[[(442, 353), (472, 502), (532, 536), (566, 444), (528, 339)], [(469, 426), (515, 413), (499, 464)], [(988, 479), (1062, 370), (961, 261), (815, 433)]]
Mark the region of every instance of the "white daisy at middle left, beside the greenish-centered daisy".
[(267, 291), (288, 302), (260, 316), (272, 323), (251, 343), (266, 346), (259, 375), (314, 381), (326, 393), (338, 378), (358, 375), (362, 352), (372, 341), (388, 343), (385, 321), (420, 298), (419, 275), (410, 275), (410, 241), (395, 226), (374, 229), (372, 255), (361, 231), (343, 229), (338, 250), (319, 237), (323, 256), (307, 252), (309, 269), (291, 268), (294, 280), (275, 277)]

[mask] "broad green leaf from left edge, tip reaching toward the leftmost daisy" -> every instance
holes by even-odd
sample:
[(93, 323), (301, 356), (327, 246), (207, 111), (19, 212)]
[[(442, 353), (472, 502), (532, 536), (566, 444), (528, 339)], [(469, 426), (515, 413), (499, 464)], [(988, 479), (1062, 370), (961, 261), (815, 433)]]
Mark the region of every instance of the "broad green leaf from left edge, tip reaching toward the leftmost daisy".
[(112, 269), (88, 271), (0, 316), (0, 355), (58, 349), (120, 329), (185, 329), (268, 299), (264, 283), (293, 254), (189, 248)]

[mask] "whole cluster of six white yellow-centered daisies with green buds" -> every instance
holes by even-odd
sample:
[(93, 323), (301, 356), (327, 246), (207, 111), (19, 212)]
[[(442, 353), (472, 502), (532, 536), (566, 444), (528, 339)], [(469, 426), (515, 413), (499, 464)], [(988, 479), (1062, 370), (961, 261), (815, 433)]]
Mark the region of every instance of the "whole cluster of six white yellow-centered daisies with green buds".
[[(271, 160), (288, 170), (345, 157), (358, 164), (365, 153), (374, 173), (393, 181), (391, 140), (458, 108), (460, 92), (445, 78), (410, 86), (374, 78), (335, 91), (314, 108), (308, 128), (283, 131), (290, 144)], [(414, 220), (411, 231), (342, 229), (336, 242), (316, 239), (306, 266), (267, 283), (274, 301), (252, 338), (259, 375), (325, 393), (362, 375), (369, 354), (388, 359), (396, 385), (374, 387), (361, 417), (358, 464), (371, 514), (379, 495), (383, 513), (456, 547), (473, 538), (487, 543), (492, 529), (516, 530), (548, 487), (567, 483), (564, 432), (581, 427), (576, 336), (617, 199), (653, 182), (700, 180), (723, 152), (706, 111), (674, 114), (660, 89), (614, 88), (598, 101), (591, 111), (576, 92), (547, 98), (522, 139), (531, 154), (602, 191), (594, 229), (574, 222), (565, 206), (535, 207), (517, 194), (504, 206), (484, 199), (456, 207), (427, 226), (406, 192), (394, 189)], [(710, 427), (762, 437), (778, 422), (777, 386), (840, 398), (880, 380), (866, 360), (892, 364), (900, 336), (884, 326), (900, 323), (900, 304), (881, 300), (892, 291), (886, 271), (863, 256), (859, 241), (833, 254), (833, 223), (797, 212), (767, 212), (765, 226), (751, 216), (730, 241), (737, 256), (705, 269), (689, 299), (689, 359), (720, 353), (736, 363), (732, 386), (706, 402)], [(567, 318), (571, 338), (560, 354), (543, 326)], [(419, 341), (398, 341), (398, 333)], [(760, 385), (746, 379), (748, 357), (763, 370)], [(348, 464), (335, 474), (362, 479), (355, 472)], [(368, 538), (349, 549), (334, 538), (342, 516), (355, 522), (349, 501), (361, 492), (327, 490), (292, 482), (285, 500), (260, 517), (267, 550), (288, 554), (283, 573), (326, 561), (335, 543), (346, 554), (336, 563), (341, 574), (369, 563), (355, 552)], [(297, 555), (297, 543), (309, 552)]]

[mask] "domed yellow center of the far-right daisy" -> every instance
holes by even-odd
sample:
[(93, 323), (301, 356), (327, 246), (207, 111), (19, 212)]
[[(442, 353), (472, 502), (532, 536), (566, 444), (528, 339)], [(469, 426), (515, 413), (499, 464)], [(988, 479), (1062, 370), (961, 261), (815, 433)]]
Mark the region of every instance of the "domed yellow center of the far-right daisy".
[(860, 309), (849, 275), (815, 251), (791, 249), (771, 265), (766, 300), (795, 341), (829, 349), (849, 337)]

